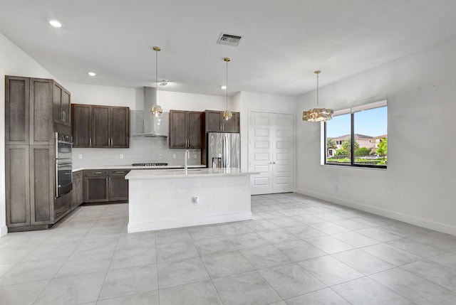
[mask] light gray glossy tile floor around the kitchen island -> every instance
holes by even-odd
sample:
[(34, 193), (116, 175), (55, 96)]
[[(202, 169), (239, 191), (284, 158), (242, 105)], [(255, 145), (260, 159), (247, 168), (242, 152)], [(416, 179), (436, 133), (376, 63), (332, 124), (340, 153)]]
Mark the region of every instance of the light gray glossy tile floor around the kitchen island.
[(254, 220), (128, 234), (82, 206), (0, 238), (0, 304), (456, 304), (456, 237), (296, 193)]

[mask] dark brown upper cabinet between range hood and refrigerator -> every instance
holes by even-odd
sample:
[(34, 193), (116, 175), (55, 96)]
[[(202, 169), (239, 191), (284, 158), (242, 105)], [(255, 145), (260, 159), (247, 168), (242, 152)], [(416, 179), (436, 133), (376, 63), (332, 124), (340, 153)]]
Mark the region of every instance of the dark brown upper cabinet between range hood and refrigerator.
[(170, 149), (201, 149), (203, 122), (202, 112), (170, 110)]

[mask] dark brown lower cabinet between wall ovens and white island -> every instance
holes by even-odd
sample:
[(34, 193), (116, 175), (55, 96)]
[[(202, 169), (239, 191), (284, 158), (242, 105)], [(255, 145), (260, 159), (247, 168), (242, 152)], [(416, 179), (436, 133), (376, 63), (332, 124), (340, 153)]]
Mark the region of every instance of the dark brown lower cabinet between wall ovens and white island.
[(84, 171), (83, 202), (103, 203), (128, 200), (129, 170)]

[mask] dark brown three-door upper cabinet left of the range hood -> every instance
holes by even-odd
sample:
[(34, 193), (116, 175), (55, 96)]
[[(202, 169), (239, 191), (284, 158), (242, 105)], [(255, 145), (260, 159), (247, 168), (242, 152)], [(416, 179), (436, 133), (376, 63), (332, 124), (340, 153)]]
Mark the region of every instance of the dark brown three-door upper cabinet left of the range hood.
[(128, 148), (130, 109), (100, 105), (71, 105), (73, 147)]

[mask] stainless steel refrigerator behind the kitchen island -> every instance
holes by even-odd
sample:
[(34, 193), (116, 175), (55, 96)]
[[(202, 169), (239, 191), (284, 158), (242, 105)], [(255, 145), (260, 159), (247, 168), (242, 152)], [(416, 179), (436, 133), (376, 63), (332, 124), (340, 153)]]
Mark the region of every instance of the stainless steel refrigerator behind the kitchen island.
[(240, 168), (239, 134), (209, 132), (207, 134), (207, 167)]

